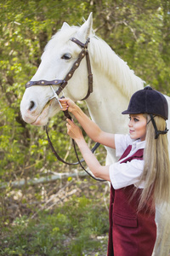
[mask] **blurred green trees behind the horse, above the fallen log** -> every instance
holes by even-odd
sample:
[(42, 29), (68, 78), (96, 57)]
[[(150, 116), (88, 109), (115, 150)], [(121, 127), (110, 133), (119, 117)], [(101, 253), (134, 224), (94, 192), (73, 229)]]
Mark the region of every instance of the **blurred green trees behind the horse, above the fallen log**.
[[(20, 118), (20, 100), (26, 82), (37, 70), (45, 44), (62, 23), (82, 24), (82, 17), (88, 18), (93, 11), (96, 34), (110, 44), (146, 84), (169, 94), (169, 8), (167, 0), (0, 1), (2, 181), (38, 177), (48, 169), (61, 170), (48, 150), (43, 129), (26, 125)], [(65, 139), (61, 119), (62, 113), (54, 117), (49, 126), (55, 146), (65, 156), (70, 141)]]

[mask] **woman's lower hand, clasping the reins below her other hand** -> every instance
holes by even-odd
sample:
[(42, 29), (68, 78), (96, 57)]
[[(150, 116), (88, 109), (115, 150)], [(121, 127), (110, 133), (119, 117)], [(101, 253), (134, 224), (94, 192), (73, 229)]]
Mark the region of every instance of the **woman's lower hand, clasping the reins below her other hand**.
[(68, 135), (75, 141), (83, 139), (81, 129), (77, 125), (75, 125), (72, 120), (70, 119), (66, 119), (66, 120), (67, 120), (66, 126), (67, 126)]

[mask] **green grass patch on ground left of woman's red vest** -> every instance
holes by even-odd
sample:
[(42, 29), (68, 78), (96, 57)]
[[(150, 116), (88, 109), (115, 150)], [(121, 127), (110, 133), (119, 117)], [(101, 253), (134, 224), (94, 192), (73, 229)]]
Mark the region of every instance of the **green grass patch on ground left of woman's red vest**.
[[(6, 230), (7, 234), (9, 230)], [(98, 236), (108, 232), (108, 212), (99, 201), (73, 196), (54, 212), (41, 212), (37, 220), (16, 218), (11, 236), (4, 236), (1, 255), (92, 255), (103, 249)], [(105, 248), (107, 241), (103, 239)], [(97, 255), (97, 254), (96, 254)], [(101, 254), (99, 254), (101, 255)]]

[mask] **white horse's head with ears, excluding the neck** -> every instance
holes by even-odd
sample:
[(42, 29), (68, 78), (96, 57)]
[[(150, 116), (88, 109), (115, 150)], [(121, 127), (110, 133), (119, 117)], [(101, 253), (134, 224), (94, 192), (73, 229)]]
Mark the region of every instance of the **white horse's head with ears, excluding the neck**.
[[(63, 26), (46, 45), (41, 58), (41, 64), (32, 81), (59, 81), (64, 80), (82, 51), (79, 44), (75, 44), (72, 38), (77, 38), (83, 44), (87, 42), (92, 32), (93, 17), (89, 15), (82, 26)], [(88, 46), (90, 48), (90, 45)], [(73, 101), (81, 100), (88, 91), (88, 71), (86, 59), (82, 59), (78, 72), (76, 71), (62, 93)], [(81, 75), (80, 75), (81, 74)], [(43, 84), (42, 84), (43, 85)], [(31, 125), (46, 125), (48, 119), (59, 112), (59, 102), (56, 101), (52, 88), (48, 85), (38, 84), (27, 86), (22, 101), (20, 112), (22, 118)], [(59, 89), (59, 84), (53, 85), (54, 90)], [(62, 96), (62, 93), (59, 96)]]

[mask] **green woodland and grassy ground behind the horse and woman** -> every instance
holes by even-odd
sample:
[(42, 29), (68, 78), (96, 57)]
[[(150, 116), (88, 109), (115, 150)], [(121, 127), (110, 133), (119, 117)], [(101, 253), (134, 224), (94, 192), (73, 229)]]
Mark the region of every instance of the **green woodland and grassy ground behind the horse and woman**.
[[(108, 184), (60, 164), (43, 128), (20, 116), (25, 84), (48, 40), (64, 21), (82, 25), (90, 12), (96, 35), (146, 84), (170, 96), (170, 1), (0, 0), (1, 255), (105, 255)], [(59, 154), (76, 161), (63, 114), (48, 125)], [(96, 155), (105, 164), (105, 149)], [(58, 173), (67, 175), (53, 181)]]

